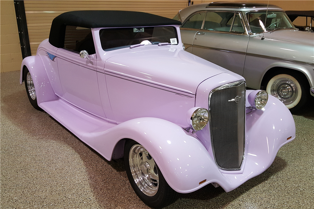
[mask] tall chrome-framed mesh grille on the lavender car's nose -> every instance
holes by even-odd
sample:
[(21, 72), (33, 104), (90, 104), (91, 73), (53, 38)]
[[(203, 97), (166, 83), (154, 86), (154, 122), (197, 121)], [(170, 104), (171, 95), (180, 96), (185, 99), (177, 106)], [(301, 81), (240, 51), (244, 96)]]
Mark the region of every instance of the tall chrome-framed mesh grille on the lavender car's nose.
[(210, 92), (211, 142), (216, 164), (224, 170), (240, 170), (244, 154), (244, 81), (220, 86)]

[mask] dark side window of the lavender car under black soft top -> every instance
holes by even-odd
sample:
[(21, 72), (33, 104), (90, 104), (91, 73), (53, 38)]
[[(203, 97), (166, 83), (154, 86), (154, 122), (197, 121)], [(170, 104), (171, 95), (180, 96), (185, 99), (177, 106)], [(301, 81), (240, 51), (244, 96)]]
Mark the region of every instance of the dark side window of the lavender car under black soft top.
[(91, 29), (67, 25), (63, 48), (75, 53), (86, 50), (89, 55), (95, 54), (96, 51)]

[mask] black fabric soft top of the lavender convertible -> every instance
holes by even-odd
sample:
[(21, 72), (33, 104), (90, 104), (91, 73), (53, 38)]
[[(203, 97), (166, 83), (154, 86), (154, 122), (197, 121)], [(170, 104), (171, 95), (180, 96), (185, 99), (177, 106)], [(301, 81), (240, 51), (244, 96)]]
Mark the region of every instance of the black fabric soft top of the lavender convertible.
[(143, 12), (112, 10), (71, 11), (62, 13), (53, 19), (49, 43), (57, 48), (63, 47), (67, 25), (83, 28), (119, 28), (181, 24), (177, 20)]

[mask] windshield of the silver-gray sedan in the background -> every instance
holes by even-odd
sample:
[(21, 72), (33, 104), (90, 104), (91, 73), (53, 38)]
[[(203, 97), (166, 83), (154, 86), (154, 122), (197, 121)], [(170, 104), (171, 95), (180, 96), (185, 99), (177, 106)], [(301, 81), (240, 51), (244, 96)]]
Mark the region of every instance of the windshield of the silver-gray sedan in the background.
[[(295, 28), (285, 12), (258, 11), (246, 13), (247, 21), (252, 33), (263, 33), (274, 29)], [(266, 24), (265, 24), (266, 18)]]

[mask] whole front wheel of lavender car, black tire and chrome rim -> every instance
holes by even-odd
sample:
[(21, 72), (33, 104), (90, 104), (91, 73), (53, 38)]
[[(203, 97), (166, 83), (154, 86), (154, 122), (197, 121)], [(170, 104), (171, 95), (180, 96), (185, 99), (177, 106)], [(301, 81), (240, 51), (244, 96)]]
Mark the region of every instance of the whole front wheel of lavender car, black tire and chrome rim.
[(168, 185), (149, 152), (131, 139), (124, 145), (124, 165), (133, 190), (146, 205), (163, 208), (179, 197), (179, 193)]

